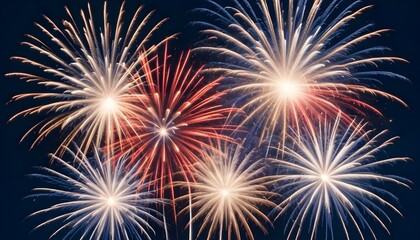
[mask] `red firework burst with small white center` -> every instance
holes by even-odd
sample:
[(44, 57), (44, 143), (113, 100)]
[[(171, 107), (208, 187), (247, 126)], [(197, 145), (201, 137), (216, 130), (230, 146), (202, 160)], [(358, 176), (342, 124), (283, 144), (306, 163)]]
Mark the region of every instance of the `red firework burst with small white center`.
[(136, 115), (129, 119), (131, 136), (116, 144), (132, 151), (133, 163), (141, 159), (138, 170), (148, 173), (161, 196), (169, 184), (174, 199), (174, 172), (191, 180), (190, 166), (202, 147), (211, 148), (208, 140), (229, 139), (221, 133), (230, 128), (225, 123), (232, 108), (218, 103), (224, 96), (215, 91), (220, 79), (205, 82), (201, 68), (188, 65), (189, 53), (181, 54), (171, 67), (167, 51), (166, 45), (162, 59), (143, 59), (133, 81), (145, 98), (138, 99)]

